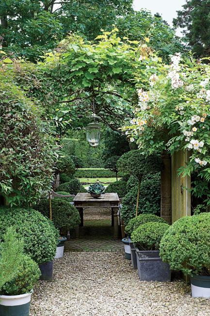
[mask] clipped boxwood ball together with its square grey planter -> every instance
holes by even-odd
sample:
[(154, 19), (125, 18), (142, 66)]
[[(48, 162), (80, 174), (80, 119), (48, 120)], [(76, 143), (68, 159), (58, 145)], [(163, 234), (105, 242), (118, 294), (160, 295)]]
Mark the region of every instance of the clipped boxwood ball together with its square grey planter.
[(137, 246), (137, 268), (141, 281), (171, 281), (169, 264), (159, 255), (162, 236), (169, 228), (168, 224), (148, 222), (140, 225), (131, 234), (131, 240)]

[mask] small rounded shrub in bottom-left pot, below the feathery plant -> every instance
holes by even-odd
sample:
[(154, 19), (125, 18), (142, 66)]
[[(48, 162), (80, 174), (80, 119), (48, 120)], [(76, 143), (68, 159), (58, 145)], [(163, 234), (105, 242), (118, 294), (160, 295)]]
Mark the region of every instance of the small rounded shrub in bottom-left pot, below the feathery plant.
[(40, 275), (38, 264), (29, 256), (22, 255), (15, 278), (2, 286), (0, 294), (20, 295), (29, 293), (39, 280)]

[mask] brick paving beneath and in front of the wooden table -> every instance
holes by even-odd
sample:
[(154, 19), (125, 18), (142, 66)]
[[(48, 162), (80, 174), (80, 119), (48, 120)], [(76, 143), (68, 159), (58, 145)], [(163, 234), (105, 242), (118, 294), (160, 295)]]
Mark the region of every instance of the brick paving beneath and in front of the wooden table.
[(70, 241), (65, 242), (65, 251), (106, 251), (123, 252), (121, 238), (113, 239), (111, 212), (104, 209), (84, 211), (84, 226), (79, 233), (73, 233)]

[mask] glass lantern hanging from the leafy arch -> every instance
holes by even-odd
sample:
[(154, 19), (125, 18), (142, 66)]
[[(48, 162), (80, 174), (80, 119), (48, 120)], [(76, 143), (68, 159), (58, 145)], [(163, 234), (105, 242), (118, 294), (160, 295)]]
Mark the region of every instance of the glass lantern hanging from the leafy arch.
[(98, 117), (95, 113), (90, 118), (93, 119), (93, 122), (85, 127), (86, 140), (92, 147), (97, 147), (100, 142), (100, 124), (97, 123)]

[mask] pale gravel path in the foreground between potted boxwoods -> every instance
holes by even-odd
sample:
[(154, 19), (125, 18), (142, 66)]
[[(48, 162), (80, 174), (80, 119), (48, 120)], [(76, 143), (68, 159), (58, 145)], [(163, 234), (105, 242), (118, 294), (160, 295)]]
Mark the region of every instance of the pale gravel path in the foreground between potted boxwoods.
[(210, 300), (190, 286), (139, 281), (124, 255), (68, 252), (55, 260), (54, 281), (40, 281), (30, 316), (210, 316)]

